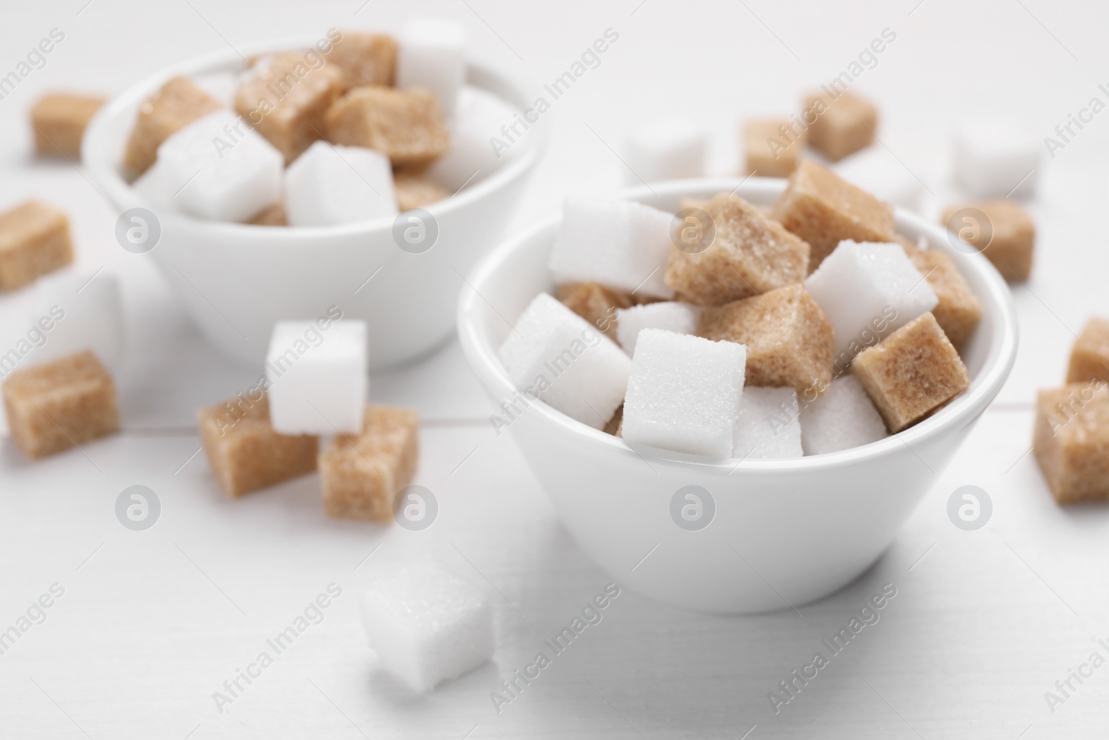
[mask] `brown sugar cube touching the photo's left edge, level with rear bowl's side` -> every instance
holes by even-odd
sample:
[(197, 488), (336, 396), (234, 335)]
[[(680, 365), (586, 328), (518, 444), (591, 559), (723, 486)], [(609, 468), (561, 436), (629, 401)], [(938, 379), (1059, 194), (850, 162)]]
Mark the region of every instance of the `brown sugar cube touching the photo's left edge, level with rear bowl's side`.
[(0, 290), (12, 291), (73, 262), (69, 219), (28, 201), (0, 214)]

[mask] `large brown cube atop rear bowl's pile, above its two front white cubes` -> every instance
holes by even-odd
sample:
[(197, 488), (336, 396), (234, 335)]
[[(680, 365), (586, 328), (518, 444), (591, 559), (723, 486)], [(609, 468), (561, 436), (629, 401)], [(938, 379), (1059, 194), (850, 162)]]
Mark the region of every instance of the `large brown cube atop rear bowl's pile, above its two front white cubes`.
[(292, 51), (277, 54), (240, 85), (235, 112), (284, 154), (288, 164), (312, 142), (323, 139), (327, 109), (342, 92), (335, 69), (314, 69), (305, 54)]

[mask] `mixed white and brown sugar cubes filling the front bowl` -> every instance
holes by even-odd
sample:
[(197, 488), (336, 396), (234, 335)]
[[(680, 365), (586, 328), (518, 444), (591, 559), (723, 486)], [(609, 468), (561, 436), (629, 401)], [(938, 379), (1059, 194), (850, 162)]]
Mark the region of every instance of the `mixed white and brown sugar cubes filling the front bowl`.
[[(847, 112), (824, 133), (843, 155), (865, 145), (866, 110)], [(970, 386), (958, 347), (981, 305), (959, 261), (869, 193), (802, 160), (769, 209), (676, 200), (711, 241), (652, 206), (566, 201), (558, 300), (538, 294), (499, 351), (522, 413), (540, 401), (637, 449), (792, 459), (878, 443)]]

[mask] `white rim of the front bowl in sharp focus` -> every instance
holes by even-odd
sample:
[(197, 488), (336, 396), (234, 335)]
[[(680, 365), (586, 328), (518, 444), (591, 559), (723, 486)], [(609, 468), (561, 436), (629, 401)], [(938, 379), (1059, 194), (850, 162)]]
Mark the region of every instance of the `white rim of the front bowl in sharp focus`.
[[(607, 196), (615, 200), (635, 200), (649, 202), (652, 197), (691, 195), (693, 191), (733, 191), (743, 197), (750, 195), (775, 196), (785, 189), (785, 180), (776, 178), (698, 178), (690, 180), (672, 180), (629, 187)], [(933, 223), (922, 215), (912, 213), (899, 206), (894, 209), (895, 222), (898, 227), (910, 226), (913, 231), (927, 235), (932, 244), (929, 249), (945, 252), (954, 251), (948, 242), (947, 230)], [(561, 221), (561, 209), (558, 213), (543, 217), (531, 226), (502, 241), (487, 254), (471, 271), (458, 300), (458, 334), (475, 375), (494, 397), (510, 398), (519, 393), (508, 377), (508, 373), (497, 354), (497, 348), (485, 342), (479, 327), (478, 317), (491, 304), (481, 297), (482, 288), (495, 283), (505, 263), (518, 250), (526, 249), (538, 239), (552, 237), (554, 229)], [(962, 253), (966, 260), (963, 264), (977, 273), (985, 285), (984, 294), (976, 294), (983, 304), (984, 313), (989, 311), (996, 316), (997, 332), (987, 349), (986, 361), (971, 387), (960, 396), (940, 408), (928, 418), (897, 434), (891, 434), (884, 439), (852, 447), (836, 453), (823, 455), (806, 455), (792, 459), (739, 459), (706, 458), (672, 450), (650, 448), (650, 459), (660, 463), (685, 464), (709, 474), (731, 475), (733, 472), (753, 473), (760, 475), (786, 475), (791, 473), (814, 473), (833, 470), (867, 460), (888, 457), (907, 447), (919, 458), (916, 447), (938, 435), (953, 432), (969, 424), (981, 414), (1001, 389), (1016, 361), (1017, 353), (1017, 318), (1013, 304), (1013, 295), (997, 270), (980, 253)], [(488, 306), (488, 308), (487, 308)], [(499, 314), (498, 314), (499, 315)], [(502, 317), (503, 318), (503, 317)], [(639, 457), (642, 455), (623, 439), (594, 429), (554, 409), (541, 401), (529, 399), (529, 409), (535, 409), (543, 426), (551, 433), (572, 436), (582, 444), (596, 444), (598, 450), (607, 454)], [(923, 458), (920, 458), (922, 462)], [(930, 466), (925, 463), (926, 467)]]

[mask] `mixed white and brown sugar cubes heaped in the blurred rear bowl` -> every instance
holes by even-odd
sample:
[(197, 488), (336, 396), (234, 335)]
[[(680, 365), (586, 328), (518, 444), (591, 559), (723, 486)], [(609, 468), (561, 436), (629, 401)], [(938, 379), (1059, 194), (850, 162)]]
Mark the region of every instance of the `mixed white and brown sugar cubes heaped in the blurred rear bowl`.
[[(466, 87), (466, 45), (462, 24), (424, 18), (397, 39), (333, 29), (241, 74), (171, 78), (140, 105), (123, 173), (146, 205), (212, 221), (327, 226), (426, 207), (505, 164), (489, 141), (506, 124), (530, 126)], [(43, 99), (40, 150), (72, 151), (94, 103)]]

